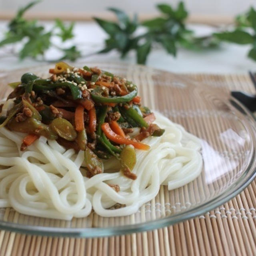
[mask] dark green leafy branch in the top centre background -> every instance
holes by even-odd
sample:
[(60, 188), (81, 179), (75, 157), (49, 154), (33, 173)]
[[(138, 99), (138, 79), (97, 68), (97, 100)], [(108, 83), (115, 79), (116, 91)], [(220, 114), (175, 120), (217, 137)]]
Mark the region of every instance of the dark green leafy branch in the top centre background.
[[(116, 49), (123, 58), (130, 50), (135, 50), (137, 62), (144, 64), (154, 44), (160, 44), (173, 56), (176, 56), (178, 46), (198, 49), (218, 45), (218, 40), (212, 36), (196, 38), (193, 32), (186, 28), (188, 12), (183, 2), (180, 2), (176, 9), (168, 4), (158, 4), (156, 7), (160, 10), (161, 16), (142, 23), (138, 23), (136, 16), (130, 20), (125, 12), (115, 8), (109, 10), (116, 14), (117, 22), (94, 18), (109, 35), (101, 52)], [(140, 27), (146, 29), (146, 32), (137, 35), (136, 30)]]

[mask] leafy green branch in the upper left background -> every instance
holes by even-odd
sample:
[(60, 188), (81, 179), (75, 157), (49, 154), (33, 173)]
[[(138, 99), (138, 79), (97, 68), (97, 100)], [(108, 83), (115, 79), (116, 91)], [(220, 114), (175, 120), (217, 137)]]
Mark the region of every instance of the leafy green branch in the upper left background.
[(9, 31), (6, 33), (4, 39), (0, 41), (0, 47), (6, 44), (15, 44), (21, 42), (22, 48), (19, 52), (20, 59), (26, 57), (38, 58), (38, 56), (44, 56), (46, 50), (50, 47), (58, 48), (62, 52), (62, 59), (76, 60), (80, 57), (80, 51), (76, 46), (70, 48), (61, 48), (54, 46), (51, 39), (53, 36), (59, 37), (62, 42), (66, 42), (69, 39), (74, 38), (73, 28), (74, 23), (69, 26), (65, 26), (61, 20), (56, 20), (54, 27), (46, 31), (46, 29), (39, 25), (36, 20), (26, 20), (23, 16), (24, 13), (32, 8), (40, 1), (36, 0), (30, 2), (24, 8), (18, 10), (16, 16), (8, 24)]

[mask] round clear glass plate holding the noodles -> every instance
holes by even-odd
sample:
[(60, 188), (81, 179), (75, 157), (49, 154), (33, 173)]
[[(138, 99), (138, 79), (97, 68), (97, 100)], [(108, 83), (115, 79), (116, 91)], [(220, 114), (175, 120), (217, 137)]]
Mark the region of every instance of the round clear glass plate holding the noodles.
[[(76, 66), (83, 66), (77, 64)], [(91, 213), (71, 221), (19, 214), (0, 209), (0, 229), (50, 236), (96, 237), (142, 232), (172, 225), (216, 208), (241, 192), (256, 173), (256, 131), (252, 115), (220, 88), (193, 82), (182, 75), (144, 66), (91, 63), (132, 80), (143, 104), (181, 124), (202, 141), (201, 175), (189, 184), (168, 191), (161, 186), (156, 198), (136, 214), (103, 218)], [(1, 88), (24, 72), (48, 75), (49, 66), (0, 73)], [(1, 97), (8, 95), (1, 90)]]

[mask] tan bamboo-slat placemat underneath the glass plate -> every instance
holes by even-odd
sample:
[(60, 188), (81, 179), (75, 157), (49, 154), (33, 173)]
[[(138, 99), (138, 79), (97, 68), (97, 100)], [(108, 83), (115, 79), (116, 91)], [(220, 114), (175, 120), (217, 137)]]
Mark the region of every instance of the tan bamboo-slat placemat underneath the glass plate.
[[(245, 75), (186, 75), (220, 87), (254, 93)], [(254, 255), (256, 180), (224, 205), (158, 230), (107, 238), (52, 238), (0, 231), (1, 255)]]

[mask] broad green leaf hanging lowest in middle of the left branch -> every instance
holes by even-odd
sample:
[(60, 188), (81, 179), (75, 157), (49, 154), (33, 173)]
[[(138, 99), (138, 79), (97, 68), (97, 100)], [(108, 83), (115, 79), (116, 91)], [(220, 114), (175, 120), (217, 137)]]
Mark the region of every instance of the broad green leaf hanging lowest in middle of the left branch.
[(25, 57), (36, 58), (38, 55), (43, 55), (44, 51), (50, 47), (50, 38), (52, 36), (51, 32), (40, 35), (38, 38), (30, 38), (30, 40), (24, 45), (20, 51), (20, 58)]

